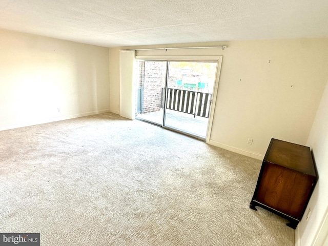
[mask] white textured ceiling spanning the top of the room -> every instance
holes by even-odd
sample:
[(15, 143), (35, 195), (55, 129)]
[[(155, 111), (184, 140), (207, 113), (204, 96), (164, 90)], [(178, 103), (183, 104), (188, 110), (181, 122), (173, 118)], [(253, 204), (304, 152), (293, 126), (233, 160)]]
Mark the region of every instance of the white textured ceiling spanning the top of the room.
[(105, 47), (328, 37), (328, 1), (0, 0), (0, 28)]

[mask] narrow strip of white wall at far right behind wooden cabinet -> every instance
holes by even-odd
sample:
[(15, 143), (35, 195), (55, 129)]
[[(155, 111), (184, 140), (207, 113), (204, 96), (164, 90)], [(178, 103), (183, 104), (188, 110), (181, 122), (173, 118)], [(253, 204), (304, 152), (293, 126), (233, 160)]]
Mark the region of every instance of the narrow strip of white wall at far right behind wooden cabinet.
[[(305, 214), (311, 209), (312, 214), (308, 221), (301, 220), (297, 230), (300, 238), (298, 245), (312, 245), (317, 231), (323, 225), (323, 219), (328, 212), (328, 83), (323, 92), (321, 103), (316, 114), (314, 124), (307, 142), (312, 149), (315, 163), (318, 169), (319, 180), (312, 194)], [(325, 225), (326, 226), (326, 225)], [(323, 228), (322, 232), (327, 230)], [(322, 238), (322, 237), (321, 237)], [(318, 246), (321, 244), (317, 244)], [(326, 245), (326, 244), (325, 244)]]

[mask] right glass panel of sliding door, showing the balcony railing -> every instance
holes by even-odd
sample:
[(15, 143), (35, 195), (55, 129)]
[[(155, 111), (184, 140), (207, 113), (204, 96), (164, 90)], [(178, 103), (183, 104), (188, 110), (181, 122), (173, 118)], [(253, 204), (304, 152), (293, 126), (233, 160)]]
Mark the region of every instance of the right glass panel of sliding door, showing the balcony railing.
[(206, 138), (216, 67), (216, 62), (169, 62), (163, 126)]

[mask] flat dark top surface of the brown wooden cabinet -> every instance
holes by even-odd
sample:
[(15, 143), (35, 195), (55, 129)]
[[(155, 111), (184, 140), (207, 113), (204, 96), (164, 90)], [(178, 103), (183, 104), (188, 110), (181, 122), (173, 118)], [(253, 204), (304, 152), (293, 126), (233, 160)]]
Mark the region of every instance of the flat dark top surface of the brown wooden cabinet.
[(271, 139), (264, 161), (316, 176), (309, 147)]

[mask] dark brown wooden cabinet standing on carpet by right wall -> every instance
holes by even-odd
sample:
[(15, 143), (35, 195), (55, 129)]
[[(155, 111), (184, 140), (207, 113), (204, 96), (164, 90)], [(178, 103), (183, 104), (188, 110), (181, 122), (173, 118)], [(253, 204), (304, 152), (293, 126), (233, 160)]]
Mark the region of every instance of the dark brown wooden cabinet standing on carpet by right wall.
[(296, 229), (317, 181), (309, 147), (271, 139), (250, 208), (269, 210)]

